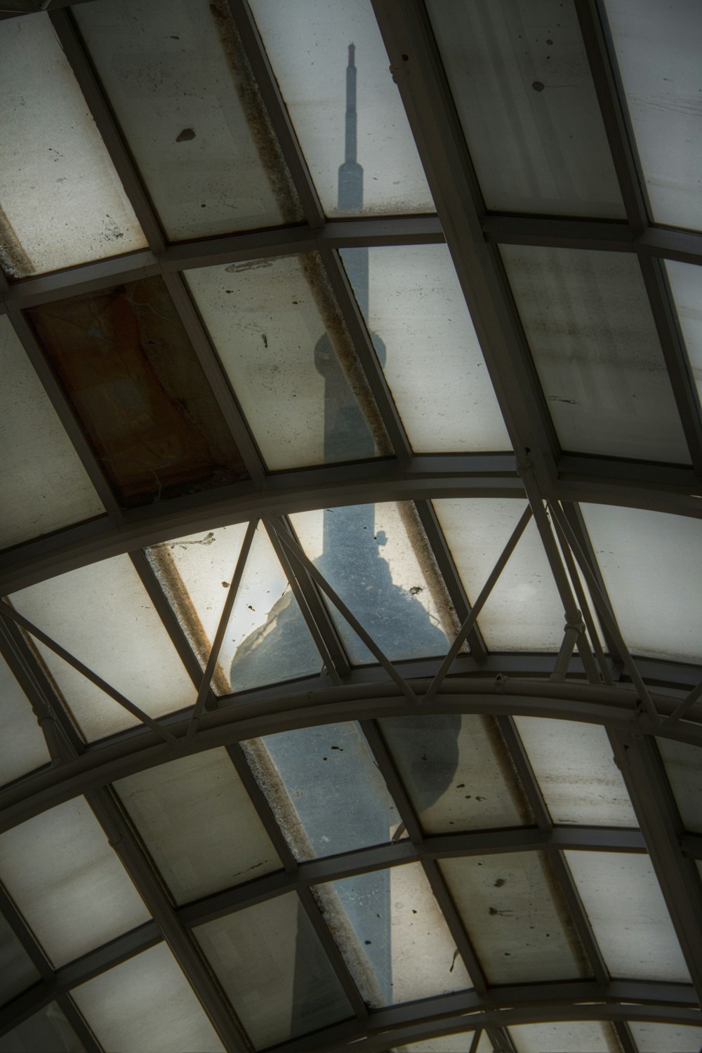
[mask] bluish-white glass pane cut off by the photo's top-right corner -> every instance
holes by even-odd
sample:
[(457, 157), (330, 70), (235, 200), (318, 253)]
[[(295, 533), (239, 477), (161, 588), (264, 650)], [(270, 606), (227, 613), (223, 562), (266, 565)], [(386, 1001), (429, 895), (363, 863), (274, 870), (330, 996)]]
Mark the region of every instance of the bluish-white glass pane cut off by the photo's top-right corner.
[(697, 0), (606, 0), (615, 54), (654, 219), (700, 226), (700, 54)]

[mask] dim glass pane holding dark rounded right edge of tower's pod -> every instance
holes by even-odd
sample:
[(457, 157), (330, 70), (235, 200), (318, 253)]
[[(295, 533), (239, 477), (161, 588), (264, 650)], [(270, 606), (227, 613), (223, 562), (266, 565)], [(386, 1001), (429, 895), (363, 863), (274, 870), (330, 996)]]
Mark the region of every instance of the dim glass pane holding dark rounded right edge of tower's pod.
[(410, 800), (428, 834), (518, 827), (531, 812), (493, 717), (381, 720)]

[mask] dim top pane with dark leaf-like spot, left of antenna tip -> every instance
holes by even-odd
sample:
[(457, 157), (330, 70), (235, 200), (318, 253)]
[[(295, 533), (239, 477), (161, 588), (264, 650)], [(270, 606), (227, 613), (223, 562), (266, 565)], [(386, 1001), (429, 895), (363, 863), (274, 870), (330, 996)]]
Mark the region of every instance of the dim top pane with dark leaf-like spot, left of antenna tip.
[(169, 238), (302, 220), (226, 3), (102, 0), (76, 18)]

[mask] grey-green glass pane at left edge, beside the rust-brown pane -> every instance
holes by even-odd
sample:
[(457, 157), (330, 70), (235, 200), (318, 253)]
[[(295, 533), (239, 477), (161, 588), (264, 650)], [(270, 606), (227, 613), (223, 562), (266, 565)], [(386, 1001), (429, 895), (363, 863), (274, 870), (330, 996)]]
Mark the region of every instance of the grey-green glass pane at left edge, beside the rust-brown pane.
[(6, 316), (0, 316), (0, 371), (4, 549), (104, 509)]

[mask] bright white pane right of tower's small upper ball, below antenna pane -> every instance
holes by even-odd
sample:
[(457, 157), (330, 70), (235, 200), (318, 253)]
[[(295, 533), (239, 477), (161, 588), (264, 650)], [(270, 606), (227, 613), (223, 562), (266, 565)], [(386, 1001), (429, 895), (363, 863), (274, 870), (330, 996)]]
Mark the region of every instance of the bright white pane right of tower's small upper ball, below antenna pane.
[(509, 450), (448, 249), (346, 249), (341, 256), (413, 449)]

